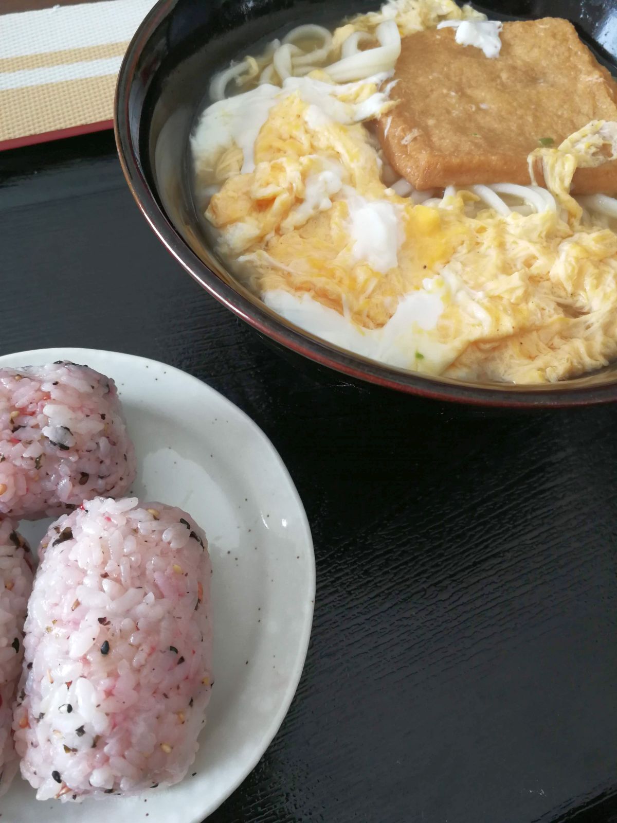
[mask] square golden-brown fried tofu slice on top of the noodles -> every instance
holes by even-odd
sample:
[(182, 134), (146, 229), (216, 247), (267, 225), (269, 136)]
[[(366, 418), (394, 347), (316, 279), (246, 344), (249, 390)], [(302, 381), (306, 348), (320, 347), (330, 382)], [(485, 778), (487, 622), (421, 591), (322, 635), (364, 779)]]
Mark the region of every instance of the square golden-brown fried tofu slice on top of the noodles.
[[(617, 83), (568, 21), (504, 23), (497, 58), (454, 37), (444, 28), (402, 40), (400, 103), (378, 122), (387, 160), (420, 191), (527, 185), (533, 149), (558, 146), (590, 120), (617, 120)], [(617, 160), (576, 170), (572, 191), (617, 192)]]

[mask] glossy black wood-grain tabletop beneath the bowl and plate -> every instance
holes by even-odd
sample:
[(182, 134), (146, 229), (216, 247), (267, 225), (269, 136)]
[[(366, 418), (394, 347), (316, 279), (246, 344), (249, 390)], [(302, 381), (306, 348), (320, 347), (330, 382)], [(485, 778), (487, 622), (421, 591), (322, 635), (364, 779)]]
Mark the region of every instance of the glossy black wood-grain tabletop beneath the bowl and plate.
[(617, 821), (612, 407), (462, 421), (314, 382), (165, 252), (111, 134), (0, 155), (0, 249), (2, 353), (93, 346), (196, 374), (304, 500), (304, 675), (212, 823)]

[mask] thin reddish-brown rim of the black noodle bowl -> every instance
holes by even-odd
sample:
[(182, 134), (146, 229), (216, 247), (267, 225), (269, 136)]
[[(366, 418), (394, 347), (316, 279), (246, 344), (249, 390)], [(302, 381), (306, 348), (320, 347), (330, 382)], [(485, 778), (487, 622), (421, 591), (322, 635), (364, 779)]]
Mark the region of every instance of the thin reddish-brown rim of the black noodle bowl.
[(493, 388), (397, 370), (375, 360), (355, 356), (308, 333), (305, 334), (278, 318), (261, 302), (248, 300), (225, 283), (193, 253), (159, 206), (151, 185), (143, 174), (139, 148), (134, 145), (129, 128), (129, 91), (137, 72), (137, 64), (151, 34), (172, 12), (175, 2), (176, 0), (159, 0), (141, 22), (128, 45), (118, 73), (115, 92), (114, 134), (124, 177), (141, 213), (169, 253), (210, 295), (258, 332), (319, 365), (327, 366), (351, 379), (392, 388), (421, 398), (480, 407), (521, 409), (589, 406), (614, 402), (617, 399), (617, 376), (615, 383), (605, 385), (577, 386), (573, 382), (566, 382), (533, 388), (520, 385)]

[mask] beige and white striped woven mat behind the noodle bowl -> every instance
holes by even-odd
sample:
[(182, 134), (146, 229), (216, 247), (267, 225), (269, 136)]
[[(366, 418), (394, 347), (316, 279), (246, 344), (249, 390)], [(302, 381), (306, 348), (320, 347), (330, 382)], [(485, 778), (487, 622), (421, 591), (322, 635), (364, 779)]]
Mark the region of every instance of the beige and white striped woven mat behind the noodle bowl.
[(0, 150), (113, 126), (128, 42), (155, 0), (0, 0)]

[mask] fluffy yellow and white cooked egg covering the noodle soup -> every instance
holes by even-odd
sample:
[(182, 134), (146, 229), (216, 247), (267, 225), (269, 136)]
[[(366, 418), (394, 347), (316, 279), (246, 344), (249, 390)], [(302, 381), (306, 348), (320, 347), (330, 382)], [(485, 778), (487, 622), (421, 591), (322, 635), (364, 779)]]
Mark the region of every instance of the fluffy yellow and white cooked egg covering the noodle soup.
[[(416, 24), (427, 25), (406, 22)], [(388, 344), (396, 356), (375, 355), (425, 373), (533, 384), (617, 357), (617, 235), (568, 194), (577, 165), (597, 162), (601, 146), (615, 142), (609, 124), (534, 152), (531, 168), (543, 164), (554, 210), (503, 216), (464, 190), (425, 206), (384, 183), (378, 142), (362, 122), (392, 105), (379, 91), (387, 78), (291, 80), (271, 87), (248, 168), (231, 133), (209, 152), (193, 143), (202, 184), (215, 190), (206, 218), (220, 253), (258, 293), (286, 293), (298, 307), (310, 298), (366, 341), (406, 297), (433, 295), (432, 323), (412, 319)], [(211, 109), (222, 106), (222, 117), (233, 100)]]

